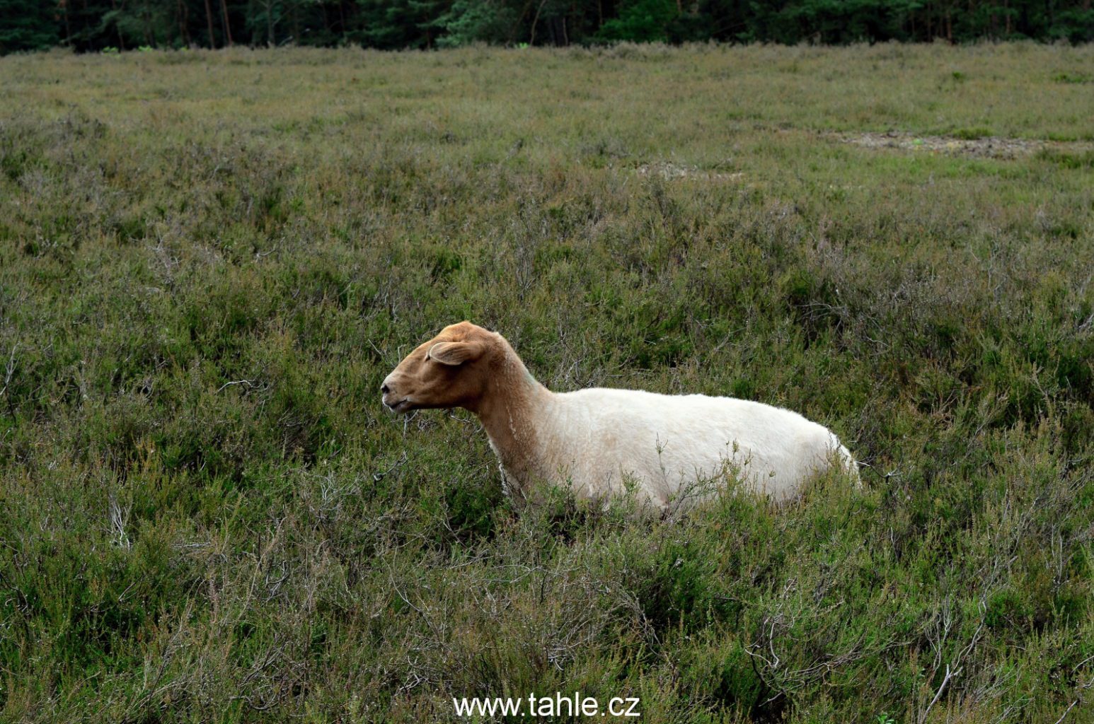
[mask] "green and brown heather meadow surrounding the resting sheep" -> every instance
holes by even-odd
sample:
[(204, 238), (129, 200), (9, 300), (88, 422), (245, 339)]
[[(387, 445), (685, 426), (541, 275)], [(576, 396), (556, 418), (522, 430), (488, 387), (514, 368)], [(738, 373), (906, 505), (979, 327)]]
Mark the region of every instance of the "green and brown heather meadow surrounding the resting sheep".
[[(0, 58), (0, 720), (1094, 721), (1092, 68)], [(799, 410), (865, 486), (519, 511), (469, 413), (380, 404), (464, 318), (552, 389)]]

